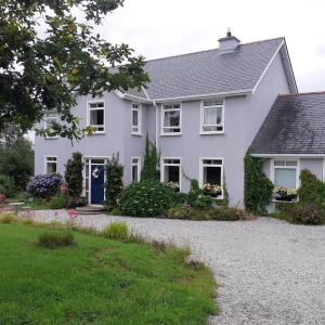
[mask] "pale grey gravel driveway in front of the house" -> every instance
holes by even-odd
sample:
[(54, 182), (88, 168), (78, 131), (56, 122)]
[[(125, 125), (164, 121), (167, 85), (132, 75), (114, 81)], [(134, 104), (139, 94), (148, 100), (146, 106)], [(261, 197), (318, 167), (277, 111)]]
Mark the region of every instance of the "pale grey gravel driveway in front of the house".
[[(66, 219), (57, 214), (56, 220)], [(96, 229), (123, 220), (142, 235), (190, 245), (193, 255), (212, 268), (220, 285), (221, 314), (211, 317), (211, 324), (325, 324), (325, 226), (270, 218), (195, 222), (86, 216), (77, 220)]]

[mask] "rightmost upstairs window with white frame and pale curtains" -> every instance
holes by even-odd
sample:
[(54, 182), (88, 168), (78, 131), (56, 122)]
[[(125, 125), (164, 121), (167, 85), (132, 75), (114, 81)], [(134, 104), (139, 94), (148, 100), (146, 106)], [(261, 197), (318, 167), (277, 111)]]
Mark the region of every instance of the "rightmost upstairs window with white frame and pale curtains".
[(217, 134), (224, 132), (223, 101), (205, 101), (200, 110), (200, 133)]

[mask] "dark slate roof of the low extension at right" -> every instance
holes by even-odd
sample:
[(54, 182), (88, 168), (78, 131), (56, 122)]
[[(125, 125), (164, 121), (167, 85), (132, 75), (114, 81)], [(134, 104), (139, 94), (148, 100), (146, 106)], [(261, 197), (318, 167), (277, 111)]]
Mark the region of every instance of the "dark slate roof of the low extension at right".
[(251, 154), (325, 154), (325, 92), (280, 95)]

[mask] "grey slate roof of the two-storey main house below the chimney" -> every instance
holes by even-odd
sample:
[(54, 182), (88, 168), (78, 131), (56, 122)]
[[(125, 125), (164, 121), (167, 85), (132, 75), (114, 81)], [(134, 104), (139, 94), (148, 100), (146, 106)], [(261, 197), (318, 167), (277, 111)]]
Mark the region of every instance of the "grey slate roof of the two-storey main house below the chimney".
[[(284, 38), (239, 44), (234, 52), (219, 49), (147, 61), (151, 100), (251, 91)], [(145, 94), (130, 91), (144, 98)]]

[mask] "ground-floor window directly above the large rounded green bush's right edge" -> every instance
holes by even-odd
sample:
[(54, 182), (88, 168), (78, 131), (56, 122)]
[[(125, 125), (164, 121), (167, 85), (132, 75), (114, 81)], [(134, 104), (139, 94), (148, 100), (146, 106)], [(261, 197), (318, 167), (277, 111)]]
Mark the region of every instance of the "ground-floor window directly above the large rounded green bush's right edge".
[(172, 187), (176, 192), (181, 190), (181, 159), (161, 159), (161, 181)]

